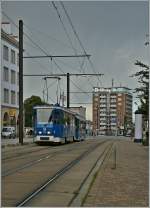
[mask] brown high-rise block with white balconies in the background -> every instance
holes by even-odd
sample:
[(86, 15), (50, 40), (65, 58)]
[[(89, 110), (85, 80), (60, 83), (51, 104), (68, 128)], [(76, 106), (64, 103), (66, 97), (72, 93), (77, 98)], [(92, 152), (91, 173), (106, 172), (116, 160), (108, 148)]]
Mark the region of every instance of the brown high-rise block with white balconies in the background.
[(132, 124), (132, 94), (126, 87), (94, 88), (93, 132), (124, 134)]

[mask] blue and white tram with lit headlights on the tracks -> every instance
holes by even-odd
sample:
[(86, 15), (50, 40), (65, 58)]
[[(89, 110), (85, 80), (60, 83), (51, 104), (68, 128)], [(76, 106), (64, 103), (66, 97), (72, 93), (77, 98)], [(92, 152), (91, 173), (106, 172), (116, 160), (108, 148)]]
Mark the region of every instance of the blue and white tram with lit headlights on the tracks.
[(35, 106), (34, 142), (67, 143), (84, 140), (85, 120), (77, 113), (60, 106)]

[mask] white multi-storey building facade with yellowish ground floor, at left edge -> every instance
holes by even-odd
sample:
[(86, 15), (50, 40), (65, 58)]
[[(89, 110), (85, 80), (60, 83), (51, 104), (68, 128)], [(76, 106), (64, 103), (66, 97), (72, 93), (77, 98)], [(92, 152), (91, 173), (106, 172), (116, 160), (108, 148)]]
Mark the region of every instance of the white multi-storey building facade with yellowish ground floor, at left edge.
[(1, 30), (1, 128), (17, 128), (19, 113), (18, 41)]

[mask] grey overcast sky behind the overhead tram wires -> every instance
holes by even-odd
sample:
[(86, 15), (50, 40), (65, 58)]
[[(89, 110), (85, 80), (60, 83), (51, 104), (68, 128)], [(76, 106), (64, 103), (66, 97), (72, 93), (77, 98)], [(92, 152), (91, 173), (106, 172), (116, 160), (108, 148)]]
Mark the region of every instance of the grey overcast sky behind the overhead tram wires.
[[(74, 55), (75, 52), (83, 54), (60, 2), (55, 2), (55, 5), (60, 12), (69, 38), (52, 2), (5, 1), (2, 2), (2, 11), (16, 24), (19, 19), (22, 19), (24, 32), (47, 53), (51, 55)], [(138, 59), (148, 64), (148, 47), (144, 45), (149, 30), (148, 1), (66, 1), (64, 5), (82, 45), (91, 55), (94, 69), (86, 58), (57, 58), (55, 61), (59, 68), (53, 60), (26, 59), (24, 60), (24, 74), (93, 73), (94, 70), (104, 74), (100, 82), (97, 77), (71, 77), (71, 91), (91, 92), (92, 86), (110, 87), (112, 78), (115, 86), (122, 85), (134, 89), (137, 81), (129, 78), (129, 75), (138, 70), (134, 62)], [(3, 16), (3, 20), (7, 18)], [(18, 34), (13, 25), (12, 31)], [(24, 55), (44, 55), (26, 37), (24, 37), (24, 49)], [(49, 102), (54, 103), (56, 102), (57, 81), (48, 80), (48, 85), (52, 85), (49, 88)], [(24, 78), (24, 99), (31, 95), (39, 95), (43, 98), (43, 88), (44, 81), (41, 78)], [(65, 78), (61, 79), (60, 88), (66, 94)], [(70, 102), (91, 103), (92, 95), (71, 94)], [(87, 118), (91, 118), (91, 105), (83, 106), (88, 106)]]

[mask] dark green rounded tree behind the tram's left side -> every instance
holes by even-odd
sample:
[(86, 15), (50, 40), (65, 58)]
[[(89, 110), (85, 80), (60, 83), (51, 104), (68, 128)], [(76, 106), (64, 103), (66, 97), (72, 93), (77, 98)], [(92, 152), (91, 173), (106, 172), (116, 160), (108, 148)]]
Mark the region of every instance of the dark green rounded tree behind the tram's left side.
[(32, 95), (24, 101), (25, 127), (32, 127), (33, 106), (48, 105), (39, 96)]

